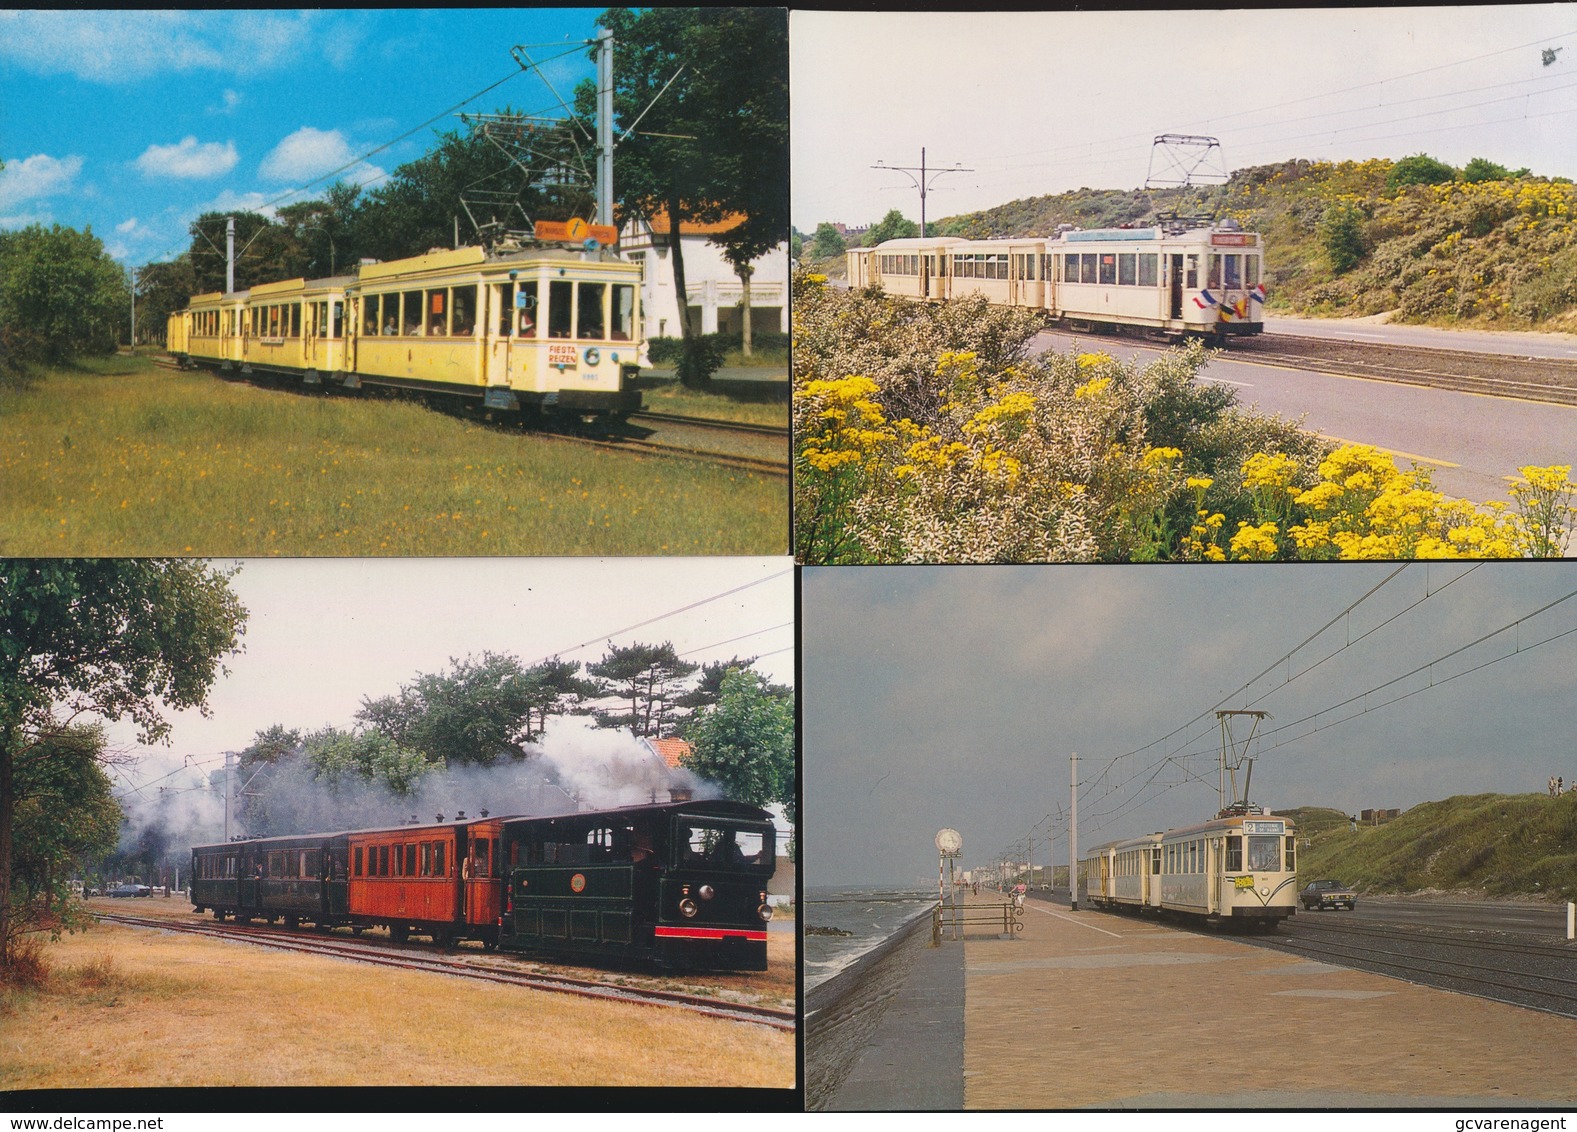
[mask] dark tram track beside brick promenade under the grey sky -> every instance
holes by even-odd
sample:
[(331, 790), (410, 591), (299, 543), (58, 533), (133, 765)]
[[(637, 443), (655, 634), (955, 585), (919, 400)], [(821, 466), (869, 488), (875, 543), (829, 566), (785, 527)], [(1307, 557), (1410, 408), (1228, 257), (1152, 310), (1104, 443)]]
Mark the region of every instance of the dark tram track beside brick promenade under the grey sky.
[(1577, 1017), (1577, 949), (1361, 924), (1295, 924), (1246, 940), (1306, 959), (1389, 974), (1498, 1003)]

